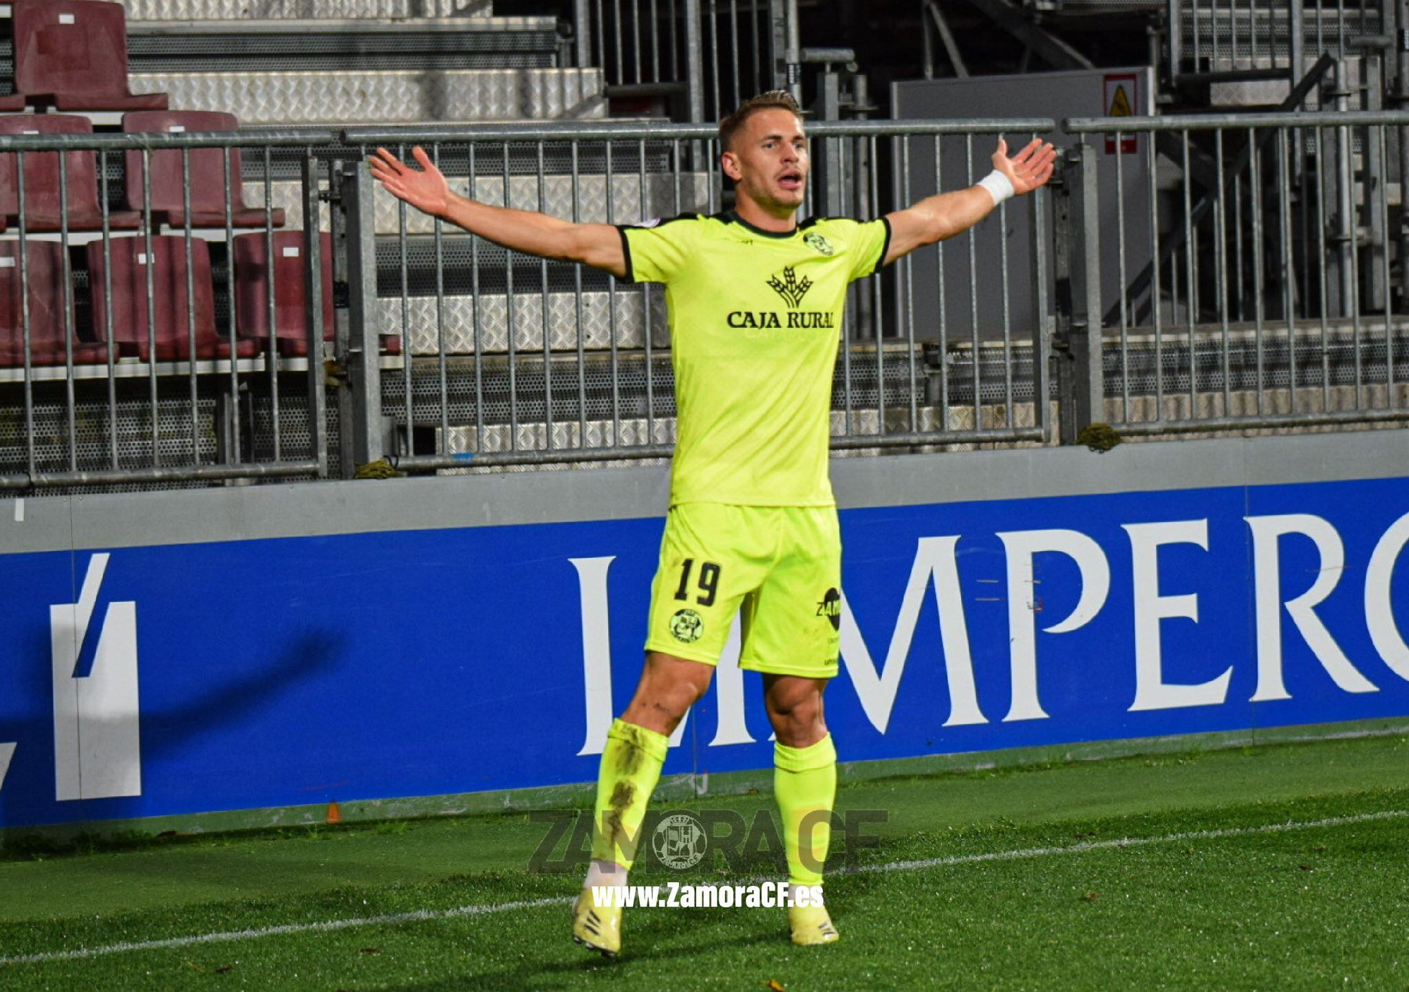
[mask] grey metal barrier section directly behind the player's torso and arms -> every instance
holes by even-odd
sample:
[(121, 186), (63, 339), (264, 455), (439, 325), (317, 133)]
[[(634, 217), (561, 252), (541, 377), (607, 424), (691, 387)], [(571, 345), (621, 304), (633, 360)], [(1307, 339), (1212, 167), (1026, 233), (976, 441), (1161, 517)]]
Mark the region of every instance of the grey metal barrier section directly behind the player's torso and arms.
[[(941, 189), (972, 185), (991, 168), (998, 135), (1022, 142), (1053, 127), (813, 125), (813, 154), (824, 161), (803, 214), (876, 217), (933, 192), (937, 176)], [(713, 127), (356, 128), (342, 140), (403, 158), (423, 145), (455, 192), (572, 221), (724, 209)], [(1051, 290), (1047, 278), (1013, 276), (1006, 237), (1014, 216), (1026, 217), (1024, 271), (1047, 273), (1044, 200), (1038, 192), (1005, 204), (979, 231), (852, 285), (833, 386), (834, 448), (1045, 440)], [(382, 373), (379, 392), (371, 371), (359, 380), (371, 399), (351, 407), (354, 461), (390, 455), (399, 468), (428, 471), (671, 452), (676, 410), (659, 286), (447, 228), (389, 196), (365, 168), (347, 173), (341, 206), (351, 347), (372, 349), (382, 334), (406, 341), (404, 364)], [(967, 316), (947, 310), (945, 283), (933, 275), (941, 252), (971, 290)]]

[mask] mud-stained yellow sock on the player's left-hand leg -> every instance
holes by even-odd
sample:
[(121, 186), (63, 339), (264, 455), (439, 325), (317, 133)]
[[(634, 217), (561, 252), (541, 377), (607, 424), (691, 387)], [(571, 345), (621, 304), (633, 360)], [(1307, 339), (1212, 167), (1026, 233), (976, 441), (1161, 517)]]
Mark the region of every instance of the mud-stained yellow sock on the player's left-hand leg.
[(614, 720), (602, 750), (593, 810), (592, 857), (630, 868), (641, 840), (645, 806), (669, 748), (665, 734)]

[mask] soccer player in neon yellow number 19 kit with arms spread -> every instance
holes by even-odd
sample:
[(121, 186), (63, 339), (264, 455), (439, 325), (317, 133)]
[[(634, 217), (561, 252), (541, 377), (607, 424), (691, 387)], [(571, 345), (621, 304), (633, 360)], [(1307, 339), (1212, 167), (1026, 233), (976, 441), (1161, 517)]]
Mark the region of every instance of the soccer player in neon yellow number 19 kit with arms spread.
[[(626, 885), (666, 741), (709, 688), (730, 624), (740, 668), (764, 678), (774, 792), (792, 885), (820, 885), (837, 751), (823, 689), (837, 674), (841, 540), (827, 476), (831, 378), (847, 285), (967, 231), (1006, 197), (1048, 180), (1055, 152), (1033, 141), (976, 186), (879, 220), (797, 223), (810, 158), (786, 92), (747, 100), (720, 123), (735, 207), (638, 225), (573, 224), (449, 192), (420, 148), (420, 170), (379, 148), (372, 175), (413, 207), (496, 244), (666, 287), (675, 365), (671, 504), (651, 589), (645, 666), (602, 752), (592, 864), (573, 938), (621, 947), (620, 906), (592, 886)], [(826, 906), (790, 906), (797, 944), (837, 940)]]

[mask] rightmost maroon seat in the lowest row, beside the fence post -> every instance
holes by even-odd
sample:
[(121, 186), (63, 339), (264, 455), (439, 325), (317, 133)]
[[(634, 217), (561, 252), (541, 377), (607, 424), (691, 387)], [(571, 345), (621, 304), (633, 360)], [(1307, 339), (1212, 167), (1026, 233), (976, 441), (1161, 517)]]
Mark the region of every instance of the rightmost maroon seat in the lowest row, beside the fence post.
[[(323, 232), (323, 340), (333, 340), (333, 235)], [(309, 289), (304, 279), (303, 231), (276, 231), (273, 235), (273, 306), (275, 340), (285, 355), (309, 354), (306, 314)], [(235, 324), (240, 337), (269, 340), (269, 262), (263, 234), (235, 238)]]

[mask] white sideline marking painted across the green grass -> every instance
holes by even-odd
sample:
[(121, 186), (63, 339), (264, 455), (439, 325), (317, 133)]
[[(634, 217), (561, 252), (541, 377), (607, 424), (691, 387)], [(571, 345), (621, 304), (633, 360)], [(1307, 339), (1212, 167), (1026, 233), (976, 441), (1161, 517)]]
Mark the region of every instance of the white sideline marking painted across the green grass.
[[(1012, 861), (1014, 858), (1041, 858), (1048, 854), (1081, 854), (1082, 851), (1100, 851), (1112, 847), (1144, 847), (1147, 844), (1167, 844), (1181, 840), (1217, 840), (1220, 837), (1247, 837), (1251, 834), (1278, 834), (1289, 830), (1315, 830), (1317, 827), (1344, 827), (1354, 823), (1370, 823), (1372, 820), (1402, 820), (1409, 817), (1409, 809), (1391, 809), (1377, 813), (1357, 813), (1355, 816), (1330, 816), (1324, 820), (1301, 820), (1288, 823), (1265, 823), (1258, 827), (1227, 827), (1224, 830), (1189, 830), (1178, 834), (1161, 834), (1158, 837), (1120, 837), (1115, 840), (1091, 840), (1062, 847), (1027, 847), (1016, 851), (989, 851), (985, 854), (954, 854), (945, 858), (921, 858), (917, 861), (888, 861), (879, 865), (861, 865), (858, 868), (841, 868), (833, 875), (854, 875), (862, 872), (881, 871), (920, 871), (924, 868), (940, 868), (945, 865), (979, 864), (982, 861)], [(251, 930), (224, 930), (220, 933), (203, 933), (192, 937), (168, 937), (166, 940), (138, 940), (121, 944), (104, 944), (101, 947), (79, 947), (72, 951), (45, 951), (42, 954), (17, 954), (14, 957), (0, 957), (0, 968), (11, 964), (39, 964), (44, 961), (76, 961), (79, 958), (97, 958), (123, 951), (155, 951), (172, 947), (192, 947), (193, 944), (221, 944), (231, 940), (256, 940), (259, 937), (276, 937), (290, 933), (325, 933), (330, 930), (347, 930), (349, 927), (395, 926), (397, 923), (424, 923), (428, 920), (451, 920), (462, 916), (483, 916), (485, 913), (500, 913), (511, 909), (537, 909), (538, 906), (566, 906), (575, 896), (551, 896), (545, 899), (520, 899), (517, 902), (499, 902), (473, 906), (457, 906), (455, 909), (418, 909), (410, 913), (386, 913), (382, 916), (358, 916), (345, 920), (318, 920), (316, 923), (285, 923), (276, 927), (259, 927)]]

